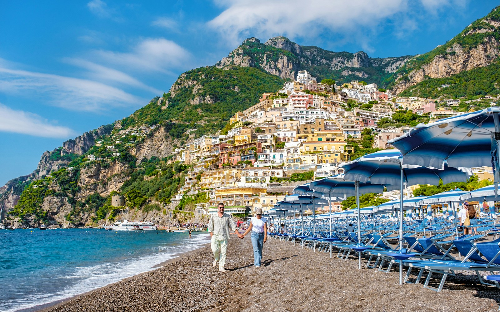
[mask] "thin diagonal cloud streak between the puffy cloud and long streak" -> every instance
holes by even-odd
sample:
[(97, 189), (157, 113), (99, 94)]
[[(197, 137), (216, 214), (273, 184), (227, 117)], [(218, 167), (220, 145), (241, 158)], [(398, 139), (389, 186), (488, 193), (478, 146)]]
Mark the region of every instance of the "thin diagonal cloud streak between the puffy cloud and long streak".
[(89, 70), (91, 72), (91, 77), (95, 80), (115, 81), (129, 86), (138, 87), (154, 94), (163, 93), (161, 90), (145, 85), (132, 76), (113, 68), (105, 67), (81, 58), (65, 58), (64, 61)]

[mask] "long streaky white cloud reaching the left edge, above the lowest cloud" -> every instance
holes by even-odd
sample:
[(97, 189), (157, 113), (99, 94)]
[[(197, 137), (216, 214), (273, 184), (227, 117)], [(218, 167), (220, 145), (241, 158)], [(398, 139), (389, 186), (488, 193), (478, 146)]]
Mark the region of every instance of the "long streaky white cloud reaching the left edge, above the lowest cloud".
[(52, 105), (77, 111), (101, 111), (144, 103), (121, 89), (66, 76), (0, 67), (0, 91), (47, 98)]

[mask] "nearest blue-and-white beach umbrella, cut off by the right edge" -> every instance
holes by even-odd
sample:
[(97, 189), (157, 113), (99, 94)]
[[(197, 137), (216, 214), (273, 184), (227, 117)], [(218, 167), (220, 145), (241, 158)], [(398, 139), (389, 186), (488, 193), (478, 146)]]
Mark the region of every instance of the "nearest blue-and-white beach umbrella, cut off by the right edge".
[(499, 180), (499, 112), (500, 107), (488, 107), (419, 124), (387, 143), (401, 151), (405, 164), (441, 169), (445, 163), (455, 168), (492, 165), (496, 185)]

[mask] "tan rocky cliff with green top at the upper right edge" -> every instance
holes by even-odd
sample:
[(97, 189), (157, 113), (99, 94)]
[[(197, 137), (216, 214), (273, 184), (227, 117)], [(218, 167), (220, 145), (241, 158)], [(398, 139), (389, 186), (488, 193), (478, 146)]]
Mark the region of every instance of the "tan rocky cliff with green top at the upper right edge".
[(408, 60), (389, 88), (397, 93), (427, 79), (445, 78), (462, 71), (485, 67), (498, 59), (500, 8), (477, 19), (443, 45)]

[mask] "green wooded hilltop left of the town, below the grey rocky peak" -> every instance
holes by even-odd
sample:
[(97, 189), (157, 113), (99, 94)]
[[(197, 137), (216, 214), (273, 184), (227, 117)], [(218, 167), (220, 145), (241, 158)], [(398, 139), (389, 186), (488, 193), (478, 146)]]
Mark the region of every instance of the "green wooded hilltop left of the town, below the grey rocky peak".
[[(192, 69), (175, 81), (172, 88), (178, 87), (178, 90), (174, 96), (172, 92), (163, 94), (168, 102), (166, 109), (151, 101), (123, 118), (122, 129), (164, 122), (174, 138), (181, 137), (186, 129), (197, 129), (196, 136), (215, 132), (223, 128), (234, 113), (258, 103), (262, 93), (275, 92), (283, 83), (278, 76), (253, 67)], [(191, 104), (197, 97), (208, 98), (213, 103)]]

